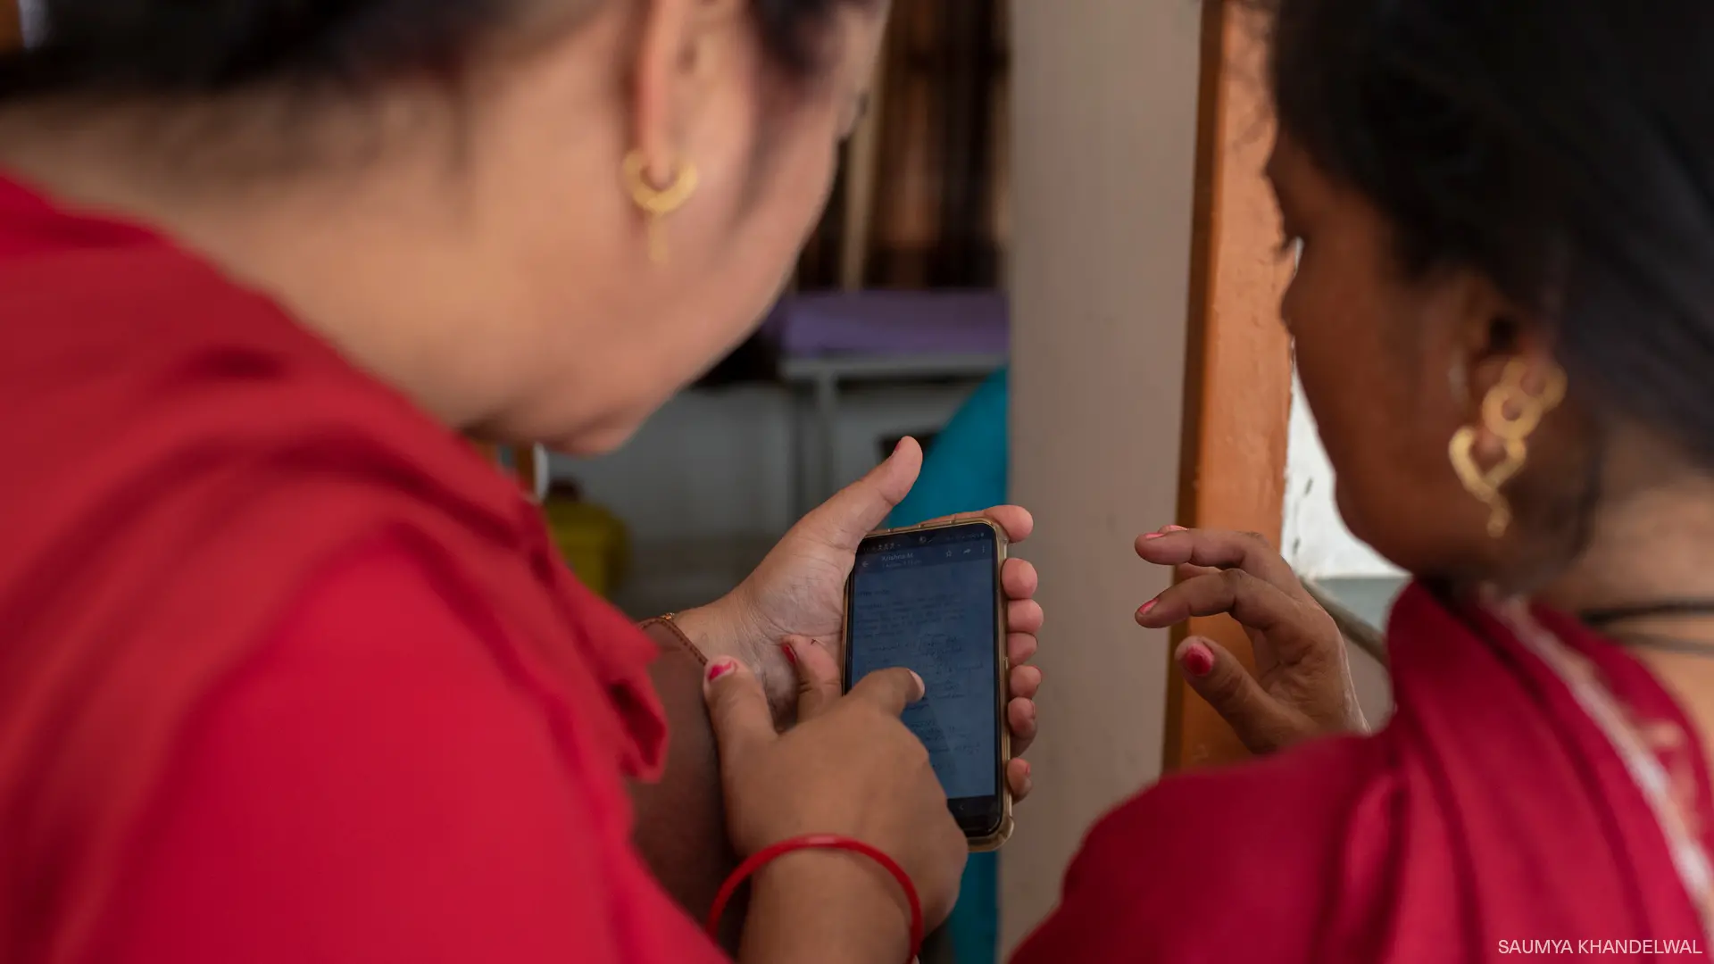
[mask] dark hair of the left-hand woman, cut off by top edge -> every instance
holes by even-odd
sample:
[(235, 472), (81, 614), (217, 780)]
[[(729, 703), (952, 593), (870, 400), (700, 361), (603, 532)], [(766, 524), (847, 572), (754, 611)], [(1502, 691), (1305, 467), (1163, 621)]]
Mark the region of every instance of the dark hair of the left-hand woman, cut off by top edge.
[[(363, 87), (454, 77), (526, 7), (578, 17), (615, 0), (41, 0), (43, 43), (0, 55), (0, 99), (218, 96), (269, 84)], [(835, 10), (869, 0), (752, 0), (775, 62), (821, 63)]]

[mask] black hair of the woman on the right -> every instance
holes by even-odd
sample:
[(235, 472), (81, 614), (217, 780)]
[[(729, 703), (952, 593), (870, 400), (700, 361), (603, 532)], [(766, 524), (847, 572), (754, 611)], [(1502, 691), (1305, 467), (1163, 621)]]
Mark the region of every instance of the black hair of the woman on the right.
[(1284, 132), (1553, 324), (1573, 391), (1714, 461), (1714, 2), (1272, 0)]

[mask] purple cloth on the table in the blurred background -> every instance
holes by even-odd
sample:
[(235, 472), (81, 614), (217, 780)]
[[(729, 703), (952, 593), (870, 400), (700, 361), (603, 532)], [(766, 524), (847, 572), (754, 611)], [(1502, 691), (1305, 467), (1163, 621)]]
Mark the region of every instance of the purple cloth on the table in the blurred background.
[(999, 292), (816, 292), (788, 295), (764, 328), (780, 353), (1004, 355), (1006, 295)]

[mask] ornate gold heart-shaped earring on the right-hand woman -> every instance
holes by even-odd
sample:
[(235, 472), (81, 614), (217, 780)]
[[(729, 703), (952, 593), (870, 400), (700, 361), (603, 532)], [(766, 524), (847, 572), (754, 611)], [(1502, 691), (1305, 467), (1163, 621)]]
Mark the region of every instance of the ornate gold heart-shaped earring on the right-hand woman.
[(1505, 446), (1498, 463), (1488, 470), (1476, 465), (1479, 432), (1474, 425), (1453, 432), (1447, 449), (1459, 482), (1488, 506), (1488, 535), (1493, 539), (1505, 535), (1512, 525), (1512, 503), (1500, 489), (1524, 468), (1529, 458), (1529, 436), (1541, 425), (1541, 419), (1565, 400), (1565, 369), (1553, 365), (1539, 395), (1531, 395), (1524, 388), (1527, 374), (1529, 365), (1522, 358), (1513, 358), (1507, 362), (1500, 383), (1483, 396), (1483, 427)]

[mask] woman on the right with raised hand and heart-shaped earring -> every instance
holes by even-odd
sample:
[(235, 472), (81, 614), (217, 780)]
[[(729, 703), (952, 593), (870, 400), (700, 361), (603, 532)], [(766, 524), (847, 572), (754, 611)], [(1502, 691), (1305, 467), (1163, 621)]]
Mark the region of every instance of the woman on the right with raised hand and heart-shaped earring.
[[(1277, 0), (1268, 175), (1351, 530), (1416, 576), (1395, 715), (1172, 777), (1015, 964), (1714, 952), (1714, 5)], [(1263, 542), (1162, 530), (1145, 626), (1268, 750), (1352, 729)]]

